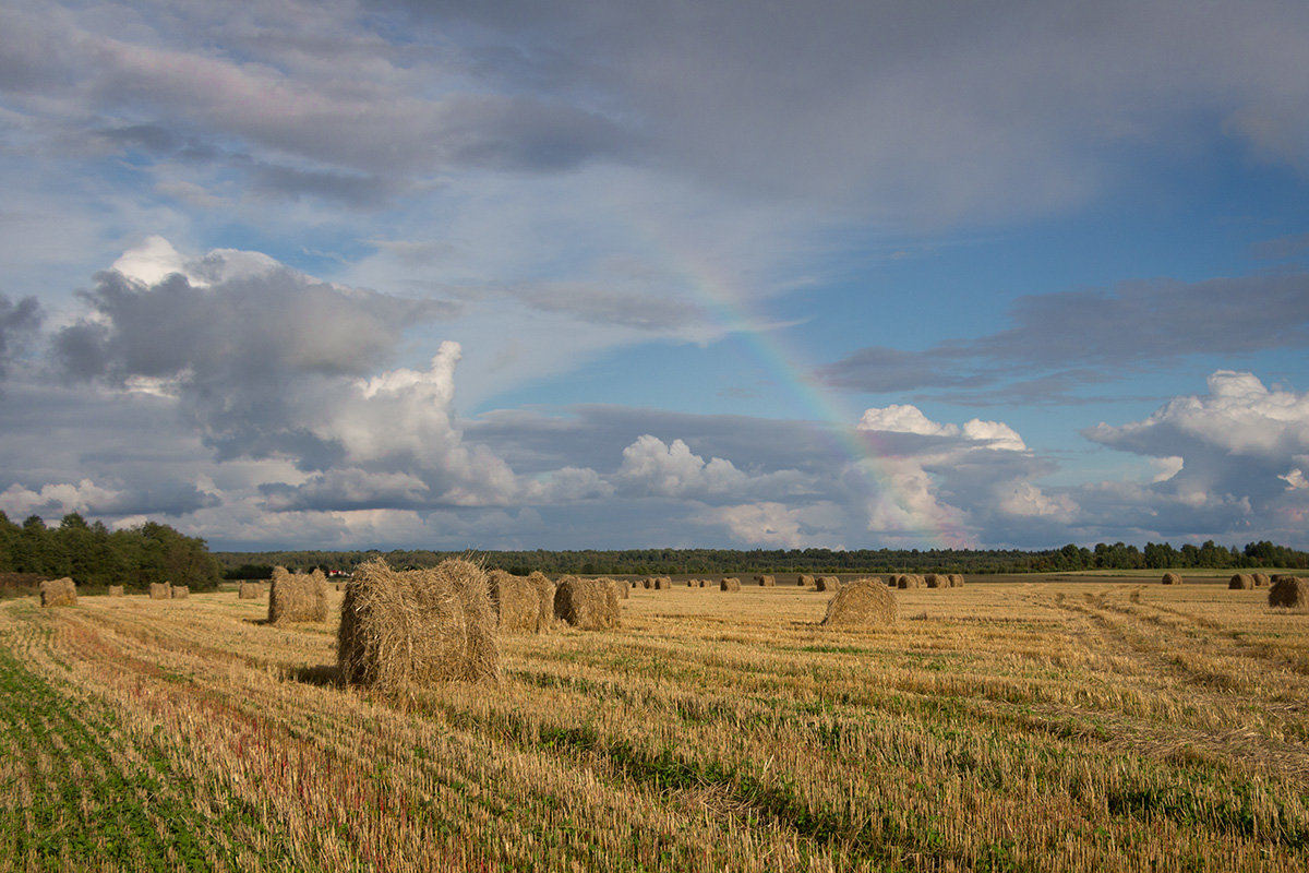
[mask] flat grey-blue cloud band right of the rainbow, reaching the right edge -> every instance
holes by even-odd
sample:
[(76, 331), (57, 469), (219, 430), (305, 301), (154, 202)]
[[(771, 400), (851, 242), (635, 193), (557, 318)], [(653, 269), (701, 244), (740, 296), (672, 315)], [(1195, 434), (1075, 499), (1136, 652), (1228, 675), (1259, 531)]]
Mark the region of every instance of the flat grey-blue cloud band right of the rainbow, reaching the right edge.
[[(1221, 349), (1309, 346), (1309, 274), (1135, 281), (1018, 298), (1012, 327), (920, 352), (872, 347), (819, 370), (868, 393), (969, 389), (983, 401), (1069, 401), (1080, 387)], [(1038, 376), (1033, 377), (1033, 373)]]

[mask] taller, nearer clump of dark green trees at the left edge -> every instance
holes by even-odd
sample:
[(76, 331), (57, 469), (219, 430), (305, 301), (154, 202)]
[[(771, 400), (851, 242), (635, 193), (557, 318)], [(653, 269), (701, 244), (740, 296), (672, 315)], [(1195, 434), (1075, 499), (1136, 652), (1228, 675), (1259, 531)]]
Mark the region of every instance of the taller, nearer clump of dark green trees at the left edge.
[[(76, 512), (64, 516), (58, 527), (47, 527), (39, 516), (17, 525), (0, 512), (0, 573), (69, 576), (92, 588), (145, 589), (151, 582), (168, 581), (206, 590), (217, 586), (223, 564), (203, 539), (153, 521), (111, 531), (103, 522), (88, 522)], [(30, 580), (17, 586), (30, 588)]]

